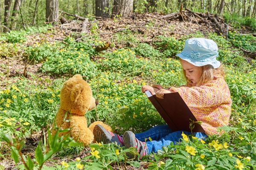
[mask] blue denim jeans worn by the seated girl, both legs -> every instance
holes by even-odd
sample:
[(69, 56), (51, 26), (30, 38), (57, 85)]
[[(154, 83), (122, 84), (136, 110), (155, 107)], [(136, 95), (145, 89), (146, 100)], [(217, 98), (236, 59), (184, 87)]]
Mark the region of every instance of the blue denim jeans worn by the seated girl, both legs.
[[(135, 137), (142, 142), (146, 142), (149, 154), (152, 152), (156, 153), (157, 150), (162, 150), (163, 146), (167, 146), (171, 144), (171, 142), (174, 144), (175, 142), (180, 142), (182, 132), (186, 135), (191, 135), (191, 132), (188, 131), (181, 130), (174, 132), (168, 125), (158, 125), (145, 132), (136, 133)], [(205, 139), (207, 137), (205, 133), (201, 132), (194, 133), (194, 136), (198, 139)], [(152, 141), (149, 141), (148, 137), (150, 137)], [(147, 138), (146, 141), (145, 138)]]

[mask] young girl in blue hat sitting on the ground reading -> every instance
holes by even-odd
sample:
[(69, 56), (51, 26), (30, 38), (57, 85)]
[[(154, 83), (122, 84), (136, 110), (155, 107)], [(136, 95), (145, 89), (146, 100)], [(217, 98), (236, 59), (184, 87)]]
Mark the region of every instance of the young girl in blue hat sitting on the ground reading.
[[(178, 92), (196, 119), (202, 122), (205, 133), (194, 133), (195, 137), (204, 139), (207, 135), (218, 134), (217, 127), (228, 125), (232, 101), (223, 68), (216, 60), (216, 43), (205, 38), (191, 38), (186, 40), (183, 51), (177, 56), (180, 57), (186, 85), (170, 87), (168, 90), (145, 85), (142, 92), (151, 91), (159, 98), (164, 98), (167, 93)], [(184, 134), (191, 135), (191, 132), (172, 131), (168, 125), (158, 125), (137, 134), (126, 131), (123, 136), (111, 133), (100, 125), (94, 128), (97, 142), (117, 142), (121, 146), (136, 147), (140, 156), (155, 153), (171, 142), (179, 142)], [(152, 140), (145, 141), (149, 137)]]

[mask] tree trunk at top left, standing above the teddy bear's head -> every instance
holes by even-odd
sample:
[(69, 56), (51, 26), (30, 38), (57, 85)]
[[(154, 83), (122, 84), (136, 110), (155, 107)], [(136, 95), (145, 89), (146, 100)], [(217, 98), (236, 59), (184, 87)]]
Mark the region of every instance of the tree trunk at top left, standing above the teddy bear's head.
[(46, 22), (55, 26), (58, 17), (58, 0), (46, 0)]

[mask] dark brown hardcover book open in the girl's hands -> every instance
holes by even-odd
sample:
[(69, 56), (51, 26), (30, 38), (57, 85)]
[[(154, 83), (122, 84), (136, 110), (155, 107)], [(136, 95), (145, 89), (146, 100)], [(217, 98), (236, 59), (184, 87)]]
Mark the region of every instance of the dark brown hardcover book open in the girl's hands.
[[(178, 92), (164, 94), (163, 99), (152, 95), (150, 91), (145, 91), (145, 94), (173, 131), (191, 131), (189, 124), (191, 120), (196, 122), (197, 119)], [(198, 123), (194, 123), (194, 125), (192, 132), (205, 132)]]

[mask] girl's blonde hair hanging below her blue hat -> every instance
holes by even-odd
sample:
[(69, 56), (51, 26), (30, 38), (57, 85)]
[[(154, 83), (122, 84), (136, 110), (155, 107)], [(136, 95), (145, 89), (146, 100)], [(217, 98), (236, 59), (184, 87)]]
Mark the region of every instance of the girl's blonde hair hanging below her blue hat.
[(202, 75), (196, 84), (192, 84), (192, 82), (189, 81), (189, 79), (186, 77), (186, 71), (183, 70), (183, 74), (186, 79), (186, 85), (188, 87), (203, 85), (213, 80), (213, 76), (221, 76), (223, 78), (225, 77), (225, 72), (222, 65), (218, 68), (213, 68), (212, 65), (204, 65), (201, 67), (202, 67)]

